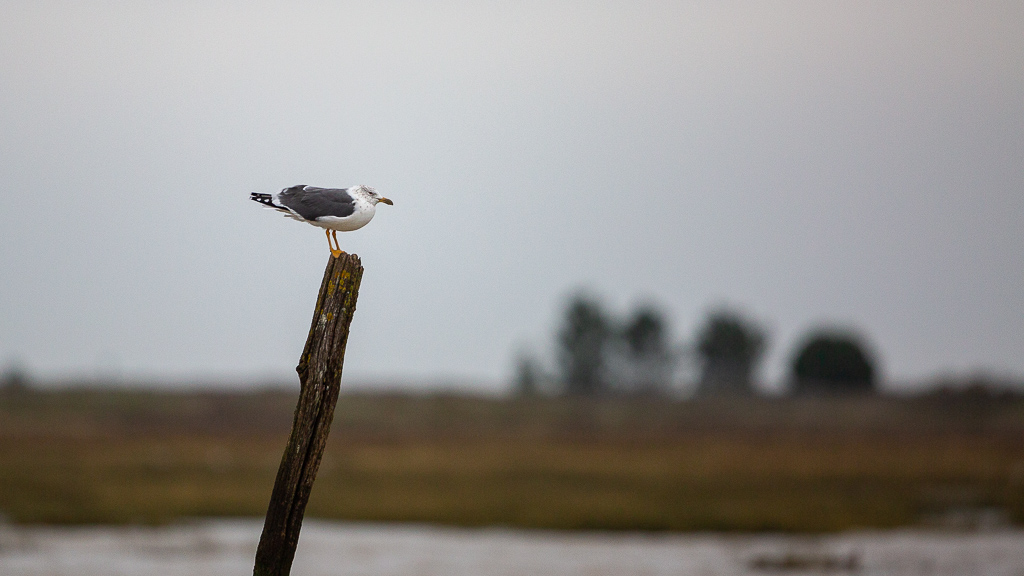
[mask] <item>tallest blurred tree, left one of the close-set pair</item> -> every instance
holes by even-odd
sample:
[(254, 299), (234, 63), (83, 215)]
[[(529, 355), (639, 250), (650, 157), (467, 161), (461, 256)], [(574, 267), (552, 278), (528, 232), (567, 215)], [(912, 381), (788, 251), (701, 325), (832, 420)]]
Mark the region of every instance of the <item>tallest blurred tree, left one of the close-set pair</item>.
[(558, 331), (558, 364), (566, 394), (604, 392), (608, 339), (609, 325), (601, 305), (585, 296), (574, 296)]

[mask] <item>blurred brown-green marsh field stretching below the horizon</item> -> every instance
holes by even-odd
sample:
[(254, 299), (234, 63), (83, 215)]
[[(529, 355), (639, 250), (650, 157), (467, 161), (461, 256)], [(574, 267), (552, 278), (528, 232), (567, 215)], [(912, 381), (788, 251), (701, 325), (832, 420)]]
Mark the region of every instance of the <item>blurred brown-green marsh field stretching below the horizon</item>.
[[(0, 394), (0, 513), (262, 517), (295, 399)], [(307, 517), (611, 530), (1020, 524), (1024, 401), (342, 395)]]

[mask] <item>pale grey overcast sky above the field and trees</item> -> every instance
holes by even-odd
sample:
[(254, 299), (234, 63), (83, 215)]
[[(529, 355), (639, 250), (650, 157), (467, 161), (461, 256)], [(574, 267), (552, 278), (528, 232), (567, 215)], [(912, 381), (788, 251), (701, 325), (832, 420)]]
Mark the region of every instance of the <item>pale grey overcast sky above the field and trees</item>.
[(0, 363), (294, 378), (368, 183), (353, 381), (479, 382), (575, 289), (1024, 374), (1024, 3), (2, 2)]

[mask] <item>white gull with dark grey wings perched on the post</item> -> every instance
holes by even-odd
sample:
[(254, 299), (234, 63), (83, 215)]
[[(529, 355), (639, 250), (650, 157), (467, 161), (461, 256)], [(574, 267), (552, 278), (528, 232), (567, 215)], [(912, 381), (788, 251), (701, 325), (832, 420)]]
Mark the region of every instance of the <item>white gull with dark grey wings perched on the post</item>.
[[(267, 208), (284, 212), (289, 218), (324, 229), (327, 234), (327, 245), (335, 258), (345, 253), (338, 244), (339, 232), (349, 232), (367, 225), (377, 211), (377, 204), (394, 205), (376, 190), (364, 184), (350, 188), (298, 184), (286, 188), (276, 194), (254, 192), (249, 195), (249, 199)], [(334, 237), (333, 245), (332, 237)]]

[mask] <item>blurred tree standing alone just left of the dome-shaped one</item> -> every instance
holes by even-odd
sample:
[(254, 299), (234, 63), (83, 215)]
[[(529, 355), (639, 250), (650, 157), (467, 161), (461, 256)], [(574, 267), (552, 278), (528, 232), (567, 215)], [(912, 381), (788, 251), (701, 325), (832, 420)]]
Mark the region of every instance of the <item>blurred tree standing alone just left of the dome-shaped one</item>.
[(764, 353), (765, 339), (759, 326), (734, 312), (710, 314), (697, 332), (700, 365), (697, 394), (752, 394), (754, 370)]

